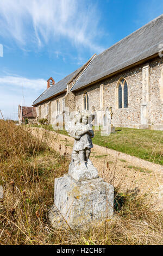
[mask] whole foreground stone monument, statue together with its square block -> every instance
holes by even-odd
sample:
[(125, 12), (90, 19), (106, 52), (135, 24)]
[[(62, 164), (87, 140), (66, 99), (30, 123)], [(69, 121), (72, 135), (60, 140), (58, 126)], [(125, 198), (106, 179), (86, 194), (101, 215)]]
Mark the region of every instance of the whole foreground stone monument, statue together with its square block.
[(114, 187), (99, 178), (89, 159), (94, 134), (88, 117), (89, 113), (78, 113), (67, 128), (74, 146), (68, 174), (54, 181), (54, 205), (49, 210), (54, 228), (85, 227), (113, 215)]

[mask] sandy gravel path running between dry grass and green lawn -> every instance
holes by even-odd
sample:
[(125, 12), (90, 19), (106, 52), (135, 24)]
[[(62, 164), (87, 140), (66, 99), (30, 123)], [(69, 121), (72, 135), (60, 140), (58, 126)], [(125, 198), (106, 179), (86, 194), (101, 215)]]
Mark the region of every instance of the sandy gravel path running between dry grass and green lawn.
[[(48, 146), (71, 157), (73, 138), (36, 127), (29, 127), (29, 130), (39, 137), (46, 132)], [(147, 199), (155, 204), (155, 209), (163, 209), (162, 166), (96, 144), (91, 150), (90, 159), (98, 169), (99, 176), (118, 187), (122, 193), (146, 194)]]

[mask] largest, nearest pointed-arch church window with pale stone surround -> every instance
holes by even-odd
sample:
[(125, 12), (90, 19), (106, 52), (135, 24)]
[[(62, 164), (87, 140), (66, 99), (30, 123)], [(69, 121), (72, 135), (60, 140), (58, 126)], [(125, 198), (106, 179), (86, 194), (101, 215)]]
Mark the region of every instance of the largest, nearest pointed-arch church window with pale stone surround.
[(128, 107), (128, 84), (124, 78), (121, 78), (121, 80), (117, 84), (117, 98), (118, 98), (118, 103), (117, 103), (118, 108)]

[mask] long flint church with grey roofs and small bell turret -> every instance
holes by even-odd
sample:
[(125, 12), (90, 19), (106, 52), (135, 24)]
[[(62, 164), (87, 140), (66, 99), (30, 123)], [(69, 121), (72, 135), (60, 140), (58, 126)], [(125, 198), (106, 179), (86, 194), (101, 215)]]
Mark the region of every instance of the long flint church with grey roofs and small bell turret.
[(34, 102), (37, 120), (54, 124), (65, 108), (89, 110), (103, 124), (112, 107), (112, 125), (163, 130), (163, 15), (94, 54), (81, 68), (47, 89)]

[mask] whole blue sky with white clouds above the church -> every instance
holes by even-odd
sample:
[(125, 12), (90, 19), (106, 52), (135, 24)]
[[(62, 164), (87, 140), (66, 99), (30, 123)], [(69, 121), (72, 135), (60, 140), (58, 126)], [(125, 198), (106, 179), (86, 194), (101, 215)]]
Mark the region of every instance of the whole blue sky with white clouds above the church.
[(31, 106), (49, 77), (58, 82), (162, 12), (160, 0), (1, 0), (4, 118), (17, 119), (18, 104)]

